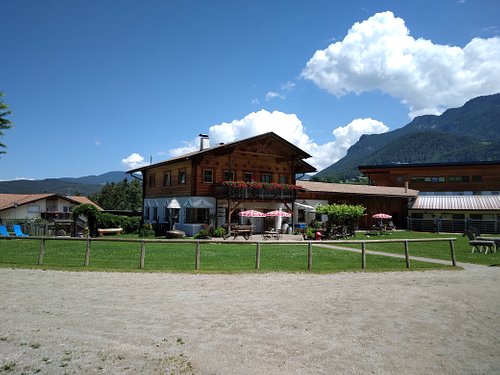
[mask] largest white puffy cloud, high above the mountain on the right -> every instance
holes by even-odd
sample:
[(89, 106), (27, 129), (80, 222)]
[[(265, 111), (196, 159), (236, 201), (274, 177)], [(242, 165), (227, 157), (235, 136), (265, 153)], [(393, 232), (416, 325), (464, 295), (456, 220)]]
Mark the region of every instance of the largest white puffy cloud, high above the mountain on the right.
[(301, 76), (337, 96), (380, 90), (415, 117), (500, 92), (499, 62), (500, 37), (474, 38), (463, 48), (434, 44), (413, 38), (403, 19), (384, 12), (316, 51)]

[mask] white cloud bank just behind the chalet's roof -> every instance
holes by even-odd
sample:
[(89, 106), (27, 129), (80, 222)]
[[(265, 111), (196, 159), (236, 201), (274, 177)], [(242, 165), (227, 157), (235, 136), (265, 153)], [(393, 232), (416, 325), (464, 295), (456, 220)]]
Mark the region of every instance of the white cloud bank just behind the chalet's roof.
[[(320, 171), (344, 157), (349, 147), (356, 143), (361, 135), (383, 133), (388, 130), (389, 128), (380, 121), (370, 118), (356, 119), (334, 129), (331, 133), (331, 140), (326, 137), (325, 143), (318, 144), (307, 135), (306, 128), (295, 114), (280, 111), (269, 112), (262, 109), (242, 119), (213, 125), (208, 134), (211, 144), (214, 145), (273, 131), (312, 155), (307, 162)], [(196, 151), (199, 147), (199, 140), (193, 139), (184, 144), (183, 147), (170, 150), (170, 155), (175, 157)]]

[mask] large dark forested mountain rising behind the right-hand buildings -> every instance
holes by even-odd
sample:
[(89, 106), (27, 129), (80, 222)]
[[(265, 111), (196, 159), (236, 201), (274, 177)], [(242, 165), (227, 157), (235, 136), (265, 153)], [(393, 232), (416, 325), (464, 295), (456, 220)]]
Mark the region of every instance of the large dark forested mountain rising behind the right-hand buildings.
[(359, 165), (500, 160), (500, 94), (481, 96), (440, 116), (425, 115), (382, 134), (363, 135), (314, 179), (360, 175)]

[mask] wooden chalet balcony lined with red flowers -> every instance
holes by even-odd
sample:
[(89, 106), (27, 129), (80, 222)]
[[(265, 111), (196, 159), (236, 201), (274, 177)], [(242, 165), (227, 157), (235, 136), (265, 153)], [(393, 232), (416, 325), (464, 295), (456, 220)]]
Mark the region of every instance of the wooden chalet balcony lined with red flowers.
[[(262, 186), (264, 185), (264, 186)], [(269, 185), (269, 184), (268, 184)], [(215, 197), (218, 199), (235, 200), (261, 200), (261, 201), (282, 201), (292, 202), (297, 197), (296, 189), (278, 188), (275, 186), (266, 186), (258, 184), (257, 186), (234, 184), (215, 186)]]

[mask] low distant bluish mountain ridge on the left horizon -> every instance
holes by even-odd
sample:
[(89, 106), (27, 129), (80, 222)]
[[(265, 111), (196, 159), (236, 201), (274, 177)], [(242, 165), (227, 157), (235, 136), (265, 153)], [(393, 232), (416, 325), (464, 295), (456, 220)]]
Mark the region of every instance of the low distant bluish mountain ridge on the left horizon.
[(63, 195), (90, 195), (101, 191), (106, 182), (120, 182), (130, 175), (108, 172), (98, 176), (47, 178), (44, 180), (12, 180), (0, 182), (2, 194), (58, 193)]

